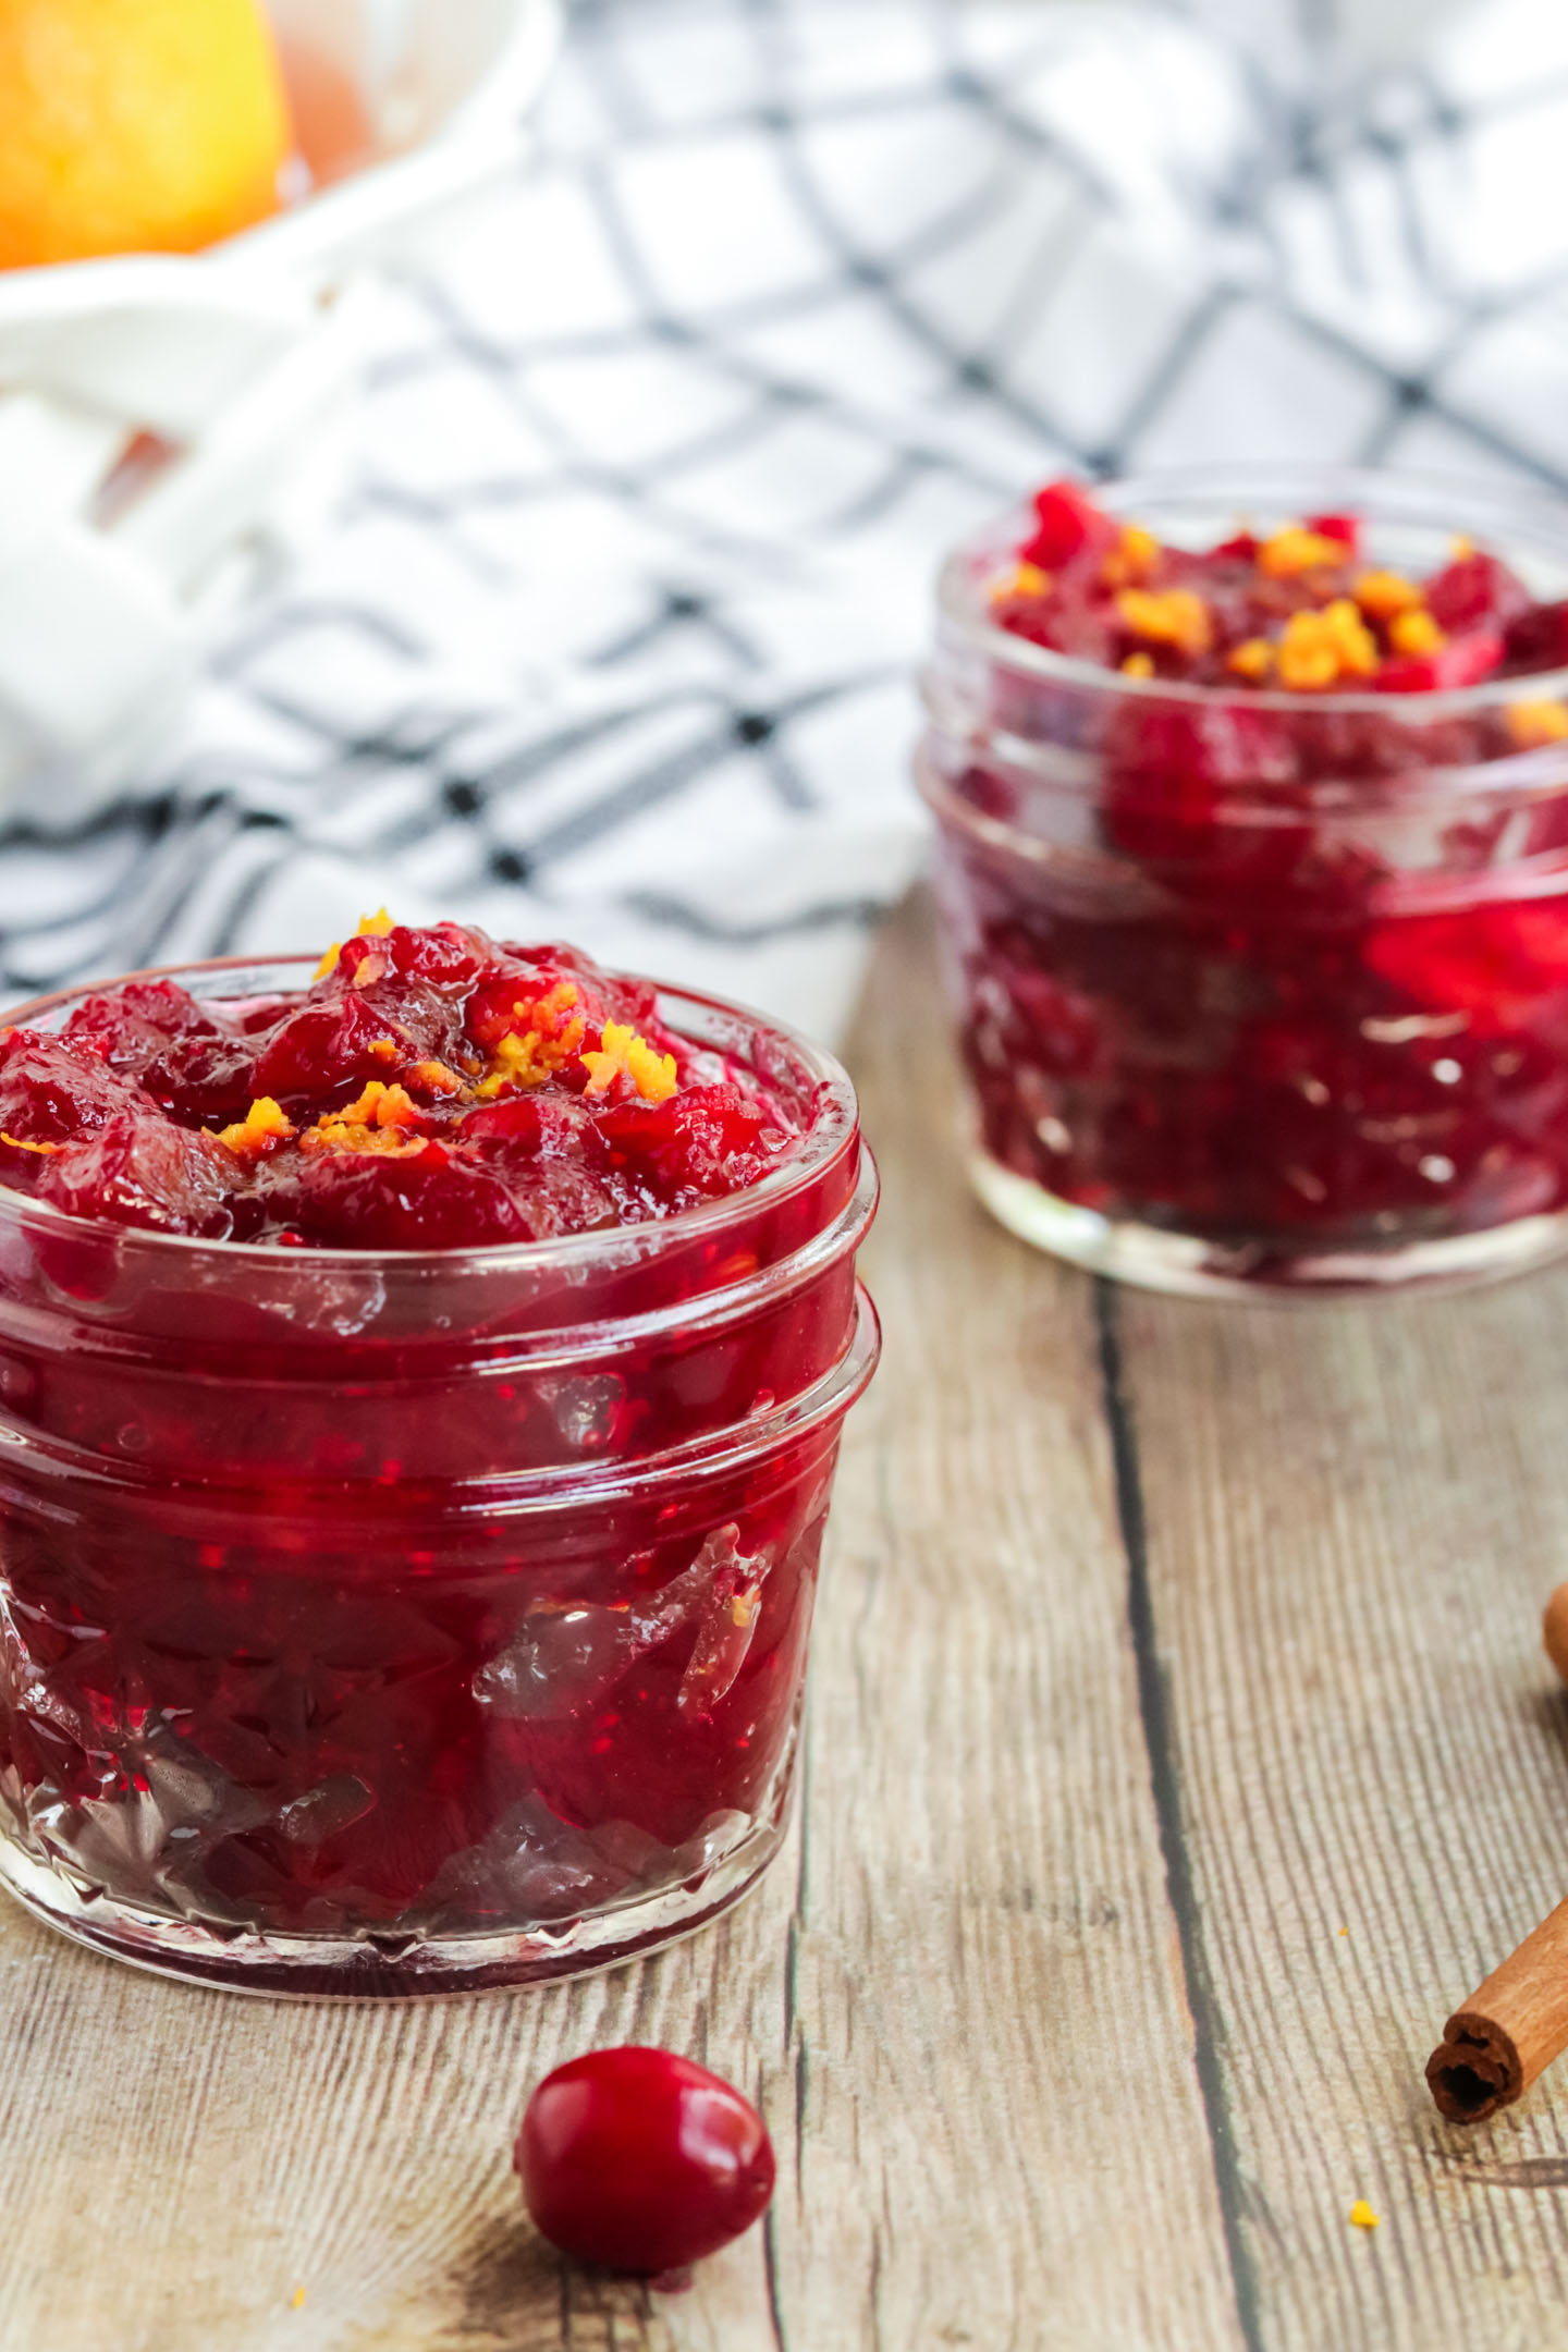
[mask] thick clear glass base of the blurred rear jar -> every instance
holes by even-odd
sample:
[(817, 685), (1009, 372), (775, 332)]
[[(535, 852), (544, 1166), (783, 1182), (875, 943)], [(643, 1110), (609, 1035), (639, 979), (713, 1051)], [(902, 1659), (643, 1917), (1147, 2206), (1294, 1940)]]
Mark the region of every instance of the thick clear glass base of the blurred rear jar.
[(1145, 1291), (1173, 1291), (1187, 1298), (1312, 1301), (1396, 1289), (1467, 1289), (1521, 1275), (1568, 1251), (1568, 1211), (1523, 1216), (1512, 1225), (1458, 1232), (1439, 1242), (1314, 1249), (1213, 1242), (1143, 1225), (1135, 1218), (1100, 1216), (1098, 1209), (1058, 1200), (1056, 1192), (1001, 1167), (983, 1150), (969, 1155), (969, 1181), (997, 1223), (1034, 1249)]

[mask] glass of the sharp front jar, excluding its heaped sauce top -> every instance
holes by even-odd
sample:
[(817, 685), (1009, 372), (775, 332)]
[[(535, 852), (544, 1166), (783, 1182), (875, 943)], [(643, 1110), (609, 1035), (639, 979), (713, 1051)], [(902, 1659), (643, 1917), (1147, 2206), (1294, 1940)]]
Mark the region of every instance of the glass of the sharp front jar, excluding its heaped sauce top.
[(0, 1882), (40, 1917), (249, 1992), (468, 1992), (764, 1870), (877, 1176), (827, 1054), (661, 1014), (804, 1143), (658, 1223), (292, 1251), (0, 1190)]

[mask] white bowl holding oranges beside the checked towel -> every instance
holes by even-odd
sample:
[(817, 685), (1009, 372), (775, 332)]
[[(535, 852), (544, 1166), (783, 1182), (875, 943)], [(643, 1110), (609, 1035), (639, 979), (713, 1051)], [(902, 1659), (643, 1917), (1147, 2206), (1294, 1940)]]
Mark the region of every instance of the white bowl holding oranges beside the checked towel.
[(110, 790), (202, 633), (324, 503), (355, 282), (517, 167), (559, 0), (268, 0), (369, 155), (205, 254), (0, 273), (0, 804)]

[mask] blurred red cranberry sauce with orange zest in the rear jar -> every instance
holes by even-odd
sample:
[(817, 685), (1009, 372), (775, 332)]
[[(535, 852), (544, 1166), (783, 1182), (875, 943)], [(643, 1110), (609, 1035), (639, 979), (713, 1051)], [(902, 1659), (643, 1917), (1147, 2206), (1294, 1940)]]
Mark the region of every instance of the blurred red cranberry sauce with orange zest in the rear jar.
[(1161, 546), (1060, 482), (985, 590), (1117, 673), (997, 652), (1016, 753), (931, 753), (987, 1152), (1237, 1244), (1568, 1204), (1568, 710), (1420, 701), (1563, 666), (1568, 604), (1467, 543), (1408, 579), (1352, 515)]

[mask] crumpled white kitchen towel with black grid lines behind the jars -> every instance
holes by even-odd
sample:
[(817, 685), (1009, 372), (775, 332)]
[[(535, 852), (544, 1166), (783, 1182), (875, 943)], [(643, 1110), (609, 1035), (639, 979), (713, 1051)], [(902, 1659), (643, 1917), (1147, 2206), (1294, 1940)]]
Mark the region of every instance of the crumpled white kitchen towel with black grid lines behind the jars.
[(381, 294), (327, 539), (139, 788), (0, 833), (5, 995), (386, 901), (832, 1035), (922, 854), (943, 548), (1051, 470), (1568, 485), (1568, 9), (578, 0)]

